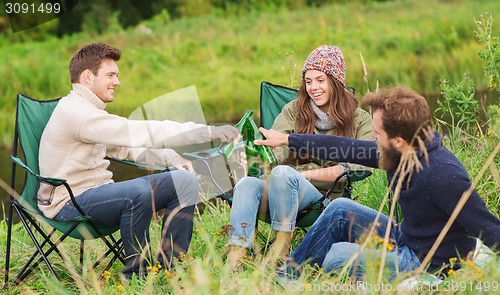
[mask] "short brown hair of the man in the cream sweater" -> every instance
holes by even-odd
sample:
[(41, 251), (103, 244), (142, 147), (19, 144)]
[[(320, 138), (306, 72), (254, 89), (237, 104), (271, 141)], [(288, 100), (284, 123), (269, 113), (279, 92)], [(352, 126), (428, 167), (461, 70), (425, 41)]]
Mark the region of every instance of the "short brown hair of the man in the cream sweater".
[(71, 83), (78, 83), (80, 75), (85, 70), (90, 70), (94, 75), (106, 59), (120, 60), (120, 50), (104, 43), (93, 43), (80, 48), (69, 63)]

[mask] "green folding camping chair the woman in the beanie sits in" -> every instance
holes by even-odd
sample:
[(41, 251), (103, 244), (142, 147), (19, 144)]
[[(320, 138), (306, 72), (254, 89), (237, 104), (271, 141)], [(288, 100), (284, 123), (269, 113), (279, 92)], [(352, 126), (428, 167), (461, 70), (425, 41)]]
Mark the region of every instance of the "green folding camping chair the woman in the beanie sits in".
[[(355, 92), (352, 87), (349, 87), (348, 90), (352, 93)], [(298, 91), (296, 89), (263, 81), (260, 85), (260, 125), (266, 129), (271, 128), (274, 123), (274, 119), (280, 114), (281, 109), (285, 106), (285, 104), (296, 99), (297, 93)], [(307, 227), (310, 227), (314, 221), (316, 221), (321, 212), (325, 209), (323, 201), (334, 192), (343, 177), (346, 178), (346, 183), (341, 196), (349, 198), (353, 189), (352, 183), (363, 180), (371, 174), (372, 171), (368, 169), (352, 171), (348, 169), (348, 171), (339, 175), (332, 183), (328, 192), (326, 192), (320, 200), (298, 212), (296, 227), (305, 230)], [(259, 215), (259, 218), (261, 218), (262, 221), (265, 221), (266, 223), (271, 222), (269, 212), (265, 214), (265, 217), (264, 214)], [(258, 230), (256, 232), (263, 241), (267, 240), (261, 232)], [(272, 242), (273, 240), (269, 241), (264, 247), (267, 248)]]

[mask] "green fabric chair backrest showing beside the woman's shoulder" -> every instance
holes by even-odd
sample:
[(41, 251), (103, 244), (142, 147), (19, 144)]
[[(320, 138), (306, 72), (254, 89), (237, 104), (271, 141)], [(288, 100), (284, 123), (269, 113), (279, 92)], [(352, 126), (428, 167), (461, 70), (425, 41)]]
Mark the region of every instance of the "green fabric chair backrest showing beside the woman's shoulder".
[(269, 129), (281, 109), (297, 98), (298, 91), (272, 84), (266, 81), (260, 83), (260, 126)]

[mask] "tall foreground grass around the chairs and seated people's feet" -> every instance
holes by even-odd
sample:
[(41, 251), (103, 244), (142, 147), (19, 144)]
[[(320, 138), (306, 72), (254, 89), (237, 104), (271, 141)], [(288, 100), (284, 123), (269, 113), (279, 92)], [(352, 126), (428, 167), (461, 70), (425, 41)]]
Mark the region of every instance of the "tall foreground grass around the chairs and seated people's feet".
[[(495, 133), (468, 135), (457, 132), (451, 133), (444, 142), (470, 172), (471, 179), (475, 179), (486, 158), (490, 156), (493, 148), (498, 144), (498, 135)], [(471, 146), (474, 148), (472, 149)], [(500, 215), (498, 164), (497, 155), (495, 164), (487, 168), (486, 174), (477, 185), (477, 190), (481, 193), (486, 205), (497, 217)], [(382, 196), (385, 194), (386, 185), (385, 173), (375, 170), (372, 176), (355, 184), (353, 198), (372, 208), (379, 208)], [(385, 206), (382, 211), (387, 214), (388, 206)], [(62, 261), (56, 259), (56, 261), (59, 261), (56, 263), (56, 269), (61, 276), (62, 284), (55, 282), (45, 267), (40, 267), (35, 274), (30, 275), (21, 285), (4, 291), (6, 294), (150, 294), (169, 292), (175, 294), (288, 294), (290, 290), (281, 289), (273, 281), (273, 269), (276, 266), (276, 260), (273, 257), (249, 255), (244, 261), (245, 269), (242, 272), (231, 274), (227, 270), (225, 263), (227, 231), (225, 225), (229, 224), (229, 212), (230, 208), (227, 203), (219, 200), (219, 202), (207, 203), (203, 214), (195, 214), (194, 233), (190, 250), (184, 260), (179, 263), (179, 267), (176, 268), (174, 274), (167, 273), (162, 269), (151, 269), (146, 280), (123, 281), (119, 276), (121, 268), (119, 264), (115, 264), (104, 280), (97, 281), (96, 276), (99, 273), (89, 270), (88, 264), (92, 261), (92, 258), (102, 253), (103, 248), (100, 246), (100, 241), (88, 243), (83, 271), (79, 270), (78, 256), (72, 254), (78, 253), (79, 244), (72, 241), (69, 246), (64, 248), (64, 253), (69, 253), (71, 258), (70, 269), (72, 271), (68, 272), (64, 268)], [(265, 223), (260, 223), (259, 229), (263, 230), (265, 234), (270, 230)], [(6, 231), (6, 223), (3, 220), (0, 222), (0, 239), (5, 239)], [(154, 249), (158, 249), (160, 231), (160, 221), (154, 221), (151, 226)], [(298, 245), (302, 237), (303, 233), (297, 231), (296, 238), (293, 240), (293, 247)], [(14, 226), (14, 238), (11, 266), (13, 272), (19, 269), (21, 263), (26, 261), (33, 250), (29, 237), (24, 233), (20, 224)], [(261, 241), (258, 240), (258, 242), (262, 245)], [(4, 247), (4, 243), (0, 244), (0, 253), (5, 253)], [(0, 256), (0, 277), (2, 278), (5, 263), (3, 255)], [(463, 270), (451, 273), (444, 283), (438, 287), (433, 287), (435, 289), (429, 289), (427, 286), (421, 286), (421, 288), (429, 292), (432, 291), (434, 294), (447, 294), (449, 293), (447, 291), (455, 286), (458, 288), (454, 289), (457, 291), (455, 294), (491, 294), (492, 284), (499, 283), (499, 258), (493, 258), (493, 261), (484, 268), (478, 268), (470, 260), (465, 261), (466, 266)], [(375, 261), (367, 272), (365, 282), (367, 286), (376, 286), (377, 284), (377, 265), (378, 262)], [(12, 275), (13, 273), (11, 273), (11, 278)], [(400, 294), (396, 293), (396, 290), (398, 284), (405, 278), (402, 274), (394, 281), (384, 281), (386, 288), (389, 288), (390, 285), (391, 292), (383, 292), (383, 294)], [(321, 270), (308, 267), (299, 284), (295, 287), (296, 290), (316, 290), (319, 293), (328, 293), (328, 291), (332, 290), (331, 288), (348, 286), (345, 285), (346, 282), (340, 279), (339, 277), (330, 277)], [(485, 291), (486, 284), (490, 284), (490, 292)], [(474, 289), (471, 289), (470, 286), (473, 286)], [(479, 288), (483, 288), (483, 290)], [(417, 290), (415, 289), (415, 291), (408, 294), (421, 294)]]

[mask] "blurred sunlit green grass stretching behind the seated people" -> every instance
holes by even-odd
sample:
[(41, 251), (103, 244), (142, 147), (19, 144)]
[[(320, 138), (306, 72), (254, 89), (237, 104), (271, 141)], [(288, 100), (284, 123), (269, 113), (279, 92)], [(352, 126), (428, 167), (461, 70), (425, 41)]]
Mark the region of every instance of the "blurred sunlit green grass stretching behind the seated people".
[(166, 25), (148, 21), (149, 32), (113, 30), (25, 43), (5, 38), (0, 40), (0, 145), (11, 142), (15, 95), (66, 95), (69, 60), (90, 42), (110, 43), (123, 51), (122, 85), (110, 112), (127, 116), (159, 95), (195, 85), (209, 122), (235, 122), (245, 110), (258, 110), (262, 80), (297, 86), (304, 59), (321, 44), (343, 50), (348, 84), (360, 95), (367, 90), (360, 53), (371, 90), (377, 81), (381, 86), (404, 84), (432, 100), (438, 96), (439, 79), (459, 81), (466, 69), (484, 90), (488, 80), (477, 56), (481, 44), (474, 35), (474, 19), (485, 12), (498, 14), (500, 3), (356, 1), (182, 18)]

